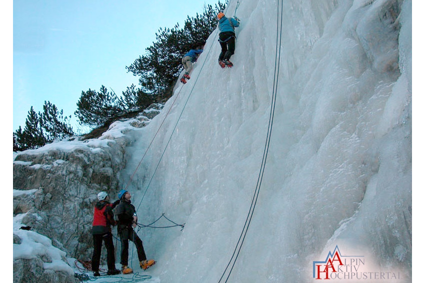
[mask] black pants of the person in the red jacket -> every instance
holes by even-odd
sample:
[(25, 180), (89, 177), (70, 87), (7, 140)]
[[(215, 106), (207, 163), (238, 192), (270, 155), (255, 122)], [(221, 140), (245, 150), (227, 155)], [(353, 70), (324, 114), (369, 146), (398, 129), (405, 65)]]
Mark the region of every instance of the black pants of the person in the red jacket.
[(91, 270), (99, 271), (100, 254), (102, 252), (102, 241), (105, 242), (107, 253), (107, 269), (115, 270), (115, 250), (113, 249), (112, 234), (106, 233), (101, 235), (93, 235), (93, 257), (91, 258)]

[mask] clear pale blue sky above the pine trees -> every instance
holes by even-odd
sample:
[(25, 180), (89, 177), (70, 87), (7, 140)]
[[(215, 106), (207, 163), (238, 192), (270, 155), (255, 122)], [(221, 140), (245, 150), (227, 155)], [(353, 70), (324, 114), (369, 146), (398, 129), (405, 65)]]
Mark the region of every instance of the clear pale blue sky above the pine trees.
[[(182, 26), (218, 0), (13, 0), (13, 131), (50, 101), (72, 115), (81, 91), (120, 94), (138, 78), (130, 65), (160, 27)], [(225, 2), (225, 1), (221, 1)]]

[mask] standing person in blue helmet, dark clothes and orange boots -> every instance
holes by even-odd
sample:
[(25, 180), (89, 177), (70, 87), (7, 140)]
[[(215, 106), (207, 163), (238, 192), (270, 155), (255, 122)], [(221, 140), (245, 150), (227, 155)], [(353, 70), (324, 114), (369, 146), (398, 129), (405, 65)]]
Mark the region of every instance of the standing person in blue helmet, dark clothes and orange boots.
[(118, 234), (121, 240), (122, 273), (129, 274), (133, 272), (132, 269), (128, 267), (128, 240), (132, 241), (136, 246), (140, 268), (146, 270), (154, 265), (155, 261), (146, 260), (143, 243), (133, 230), (137, 226), (137, 214), (130, 201), (131, 194), (126, 190), (121, 190), (118, 193), (118, 198), (120, 202), (119, 205), (116, 206), (115, 213), (118, 217)]

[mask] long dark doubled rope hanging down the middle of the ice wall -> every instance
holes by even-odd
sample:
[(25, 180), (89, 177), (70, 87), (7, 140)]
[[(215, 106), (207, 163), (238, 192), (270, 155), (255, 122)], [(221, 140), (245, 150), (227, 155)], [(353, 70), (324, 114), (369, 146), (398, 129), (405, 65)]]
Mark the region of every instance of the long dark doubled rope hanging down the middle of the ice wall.
[[(237, 257), (239, 256), (240, 250), (242, 248), (242, 244), (245, 240), (246, 233), (247, 233), (247, 230), (248, 230), (249, 224), (251, 222), (253, 212), (254, 212), (254, 209), (255, 209), (255, 206), (256, 206), (256, 203), (257, 203), (258, 194), (259, 194), (259, 190), (260, 190), (261, 182), (262, 182), (262, 177), (263, 177), (263, 174), (264, 174), (265, 162), (266, 162), (266, 159), (267, 159), (267, 153), (268, 153), (268, 148), (269, 148), (269, 144), (270, 144), (271, 128), (272, 128), (272, 125), (273, 125), (274, 109), (275, 109), (276, 96), (277, 96), (277, 81), (278, 81), (279, 65), (280, 65), (280, 42), (281, 42), (281, 37), (282, 37), (281, 29), (282, 29), (282, 16), (283, 16), (283, 0), (281, 0), (280, 2), (281, 2), (281, 7), (280, 7), (280, 17), (279, 17), (279, 1), (277, 1), (276, 52), (275, 52), (275, 60), (274, 60), (274, 78), (273, 78), (273, 90), (272, 90), (272, 98), (271, 98), (271, 106), (270, 106), (270, 116), (269, 116), (269, 120), (268, 120), (267, 137), (266, 137), (266, 140), (265, 140), (265, 146), (264, 146), (264, 152), (263, 152), (263, 156), (262, 156), (261, 166), (260, 166), (260, 170), (259, 170), (259, 174), (258, 174), (258, 179), (257, 179), (257, 184), (256, 184), (256, 187), (255, 187), (254, 195), (253, 195), (252, 201), (251, 201), (251, 206), (249, 207), (249, 212), (248, 212), (248, 215), (247, 215), (246, 220), (245, 220), (245, 224), (243, 226), (242, 232), (241, 232), (239, 239), (237, 241), (236, 247), (234, 248), (233, 254), (232, 254), (226, 268), (224, 269), (224, 272), (221, 275), (221, 278), (218, 281), (218, 283), (220, 283), (221, 280), (224, 278), (224, 276), (227, 272), (227, 269), (231, 264), (231, 268), (228, 271), (225, 283), (228, 281), (230, 274), (233, 270), (234, 264), (236, 263)], [(279, 18), (280, 18), (280, 22), (279, 22)], [(279, 30), (280, 30), (280, 33), (279, 33)], [(236, 251), (237, 251), (237, 253), (236, 253)]]

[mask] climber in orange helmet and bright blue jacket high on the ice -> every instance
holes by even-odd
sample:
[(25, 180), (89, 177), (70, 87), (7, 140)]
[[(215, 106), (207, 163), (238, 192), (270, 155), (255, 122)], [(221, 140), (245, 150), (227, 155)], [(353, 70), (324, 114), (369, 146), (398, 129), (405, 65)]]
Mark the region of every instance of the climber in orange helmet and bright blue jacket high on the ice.
[(236, 18), (225, 17), (223, 12), (217, 14), (218, 18), (218, 41), (221, 45), (221, 53), (218, 56), (218, 64), (221, 68), (232, 67), (233, 63), (229, 61), (230, 56), (234, 54), (234, 44), (236, 36), (234, 28), (239, 26), (239, 21)]

